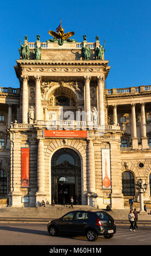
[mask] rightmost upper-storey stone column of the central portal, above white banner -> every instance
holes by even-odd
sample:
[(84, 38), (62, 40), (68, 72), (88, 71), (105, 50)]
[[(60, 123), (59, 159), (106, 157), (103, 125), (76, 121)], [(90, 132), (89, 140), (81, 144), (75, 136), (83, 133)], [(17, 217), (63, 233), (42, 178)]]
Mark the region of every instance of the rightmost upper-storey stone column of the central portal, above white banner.
[(98, 85), (98, 117), (99, 117), (99, 125), (105, 125), (105, 112), (104, 112), (104, 77), (97, 77), (97, 85)]

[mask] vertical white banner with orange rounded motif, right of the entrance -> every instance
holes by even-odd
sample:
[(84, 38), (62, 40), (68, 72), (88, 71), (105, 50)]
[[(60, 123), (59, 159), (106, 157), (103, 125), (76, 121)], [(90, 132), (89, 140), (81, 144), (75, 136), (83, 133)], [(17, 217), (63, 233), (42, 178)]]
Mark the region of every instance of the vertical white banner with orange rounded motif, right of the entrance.
[(102, 186), (111, 188), (110, 149), (102, 149)]

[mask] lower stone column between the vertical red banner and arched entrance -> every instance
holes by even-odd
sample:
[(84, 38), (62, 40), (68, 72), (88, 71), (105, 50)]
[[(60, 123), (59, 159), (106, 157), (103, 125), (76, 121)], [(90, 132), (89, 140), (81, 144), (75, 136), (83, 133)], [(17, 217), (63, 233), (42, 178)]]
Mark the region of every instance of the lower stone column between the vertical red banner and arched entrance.
[(45, 164), (44, 164), (44, 147), (43, 139), (38, 138), (37, 147), (37, 192), (36, 202), (41, 202), (42, 199), (45, 201)]

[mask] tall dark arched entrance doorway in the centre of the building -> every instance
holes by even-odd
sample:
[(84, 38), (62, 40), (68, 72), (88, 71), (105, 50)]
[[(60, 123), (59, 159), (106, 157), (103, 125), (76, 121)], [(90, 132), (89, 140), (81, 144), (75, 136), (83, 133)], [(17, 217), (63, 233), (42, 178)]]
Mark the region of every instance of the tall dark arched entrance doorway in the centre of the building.
[(52, 200), (56, 204), (81, 204), (81, 161), (78, 154), (69, 148), (59, 149), (52, 156)]

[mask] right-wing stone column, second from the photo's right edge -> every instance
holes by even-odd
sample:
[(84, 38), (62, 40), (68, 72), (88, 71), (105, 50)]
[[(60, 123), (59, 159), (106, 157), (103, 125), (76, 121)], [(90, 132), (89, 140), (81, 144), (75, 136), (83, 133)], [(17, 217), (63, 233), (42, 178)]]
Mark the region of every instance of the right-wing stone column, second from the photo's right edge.
[(132, 127), (132, 147), (138, 149), (138, 138), (136, 128), (136, 114), (135, 114), (135, 103), (131, 103), (131, 127)]

